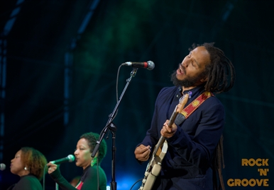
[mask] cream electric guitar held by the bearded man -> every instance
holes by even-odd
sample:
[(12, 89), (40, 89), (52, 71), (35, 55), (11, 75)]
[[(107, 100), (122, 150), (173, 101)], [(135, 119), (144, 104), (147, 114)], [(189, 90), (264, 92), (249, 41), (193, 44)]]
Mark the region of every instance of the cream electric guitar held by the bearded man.
[[(179, 104), (175, 107), (170, 117), (170, 121), (168, 122), (168, 126), (170, 128), (172, 128), (172, 124), (174, 124), (177, 114), (182, 112), (182, 109), (185, 107), (189, 96), (190, 95), (187, 93), (180, 98)], [(160, 173), (161, 163), (163, 158), (165, 157), (165, 153), (167, 153), (167, 150), (168, 142), (165, 141), (165, 138), (163, 136), (160, 136), (160, 139), (155, 145), (155, 148), (153, 149), (153, 154), (151, 155), (150, 161), (148, 162), (148, 165), (146, 167), (145, 177), (143, 177), (142, 185), (138, 190), (150, 190), (152, 188), (156, 177)]]

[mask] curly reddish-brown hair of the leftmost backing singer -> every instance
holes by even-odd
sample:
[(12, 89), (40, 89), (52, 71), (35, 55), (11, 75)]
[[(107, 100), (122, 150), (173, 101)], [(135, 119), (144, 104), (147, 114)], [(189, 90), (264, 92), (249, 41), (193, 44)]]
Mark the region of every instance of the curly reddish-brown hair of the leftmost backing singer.
[(20, 150), (22, 152), (21, 160), (23, 165), (26, 165), (30, 174), (41, 180), (43, 178), (44, 167), (48, 163), (45, 156), (40, 151), (31, 147), (22, 147)]

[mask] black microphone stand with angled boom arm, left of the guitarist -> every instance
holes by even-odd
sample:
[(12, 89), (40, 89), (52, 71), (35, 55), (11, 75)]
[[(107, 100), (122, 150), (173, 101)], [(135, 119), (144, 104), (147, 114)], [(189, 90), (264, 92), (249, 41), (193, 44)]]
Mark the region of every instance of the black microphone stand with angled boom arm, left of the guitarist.
[(116, 165), (116, 155), (115, 155), (115, 152), (116, 152), (116, 147), (115, 147), (115, 139), (116, 139), (116, 135), (115, 135), (115, 132), (116, 132), (116, 126), (113, 124), (112, 120), (114, 119), (114, 115), (116, 114), (116, 111), (119, 107), (119, 104), (124, 96), (124, 93), (126, 93), (126, 89), (128, 88), (128, 85), (129, 83), (131, 82), (131, 79), (136, 76), (136, 73), (137, 73), (137, 70), (138, 68), (135, 68), (133, 67), (132, 71), (131, 71), (131, 77), (128, 78), (126, 80), (126, 86), (124, 87), (124, 90), (123, 92), (121, 93), (121, 96), (118, 100), (118, 102), (116, 103), (116, 106), (114, 107), (114, 111), (109, 115), (109, 120), (106, 122), (106, 126), (104, 127), (103, 129), (103, 133), (102, 135), (99, 137), (99, 140), (96, 142), (97, 145), (95, 146), (93, 152), (92, 152), (92, 159), (95, 157), (98, 149), (99, 149), (99, 146), (104, 138), (104, 135), (106, 134), (106, 132), (110, 129), (111, 130), (111, 133), (112, 133), (112, 151), (111, 151), (111, 157), (112, 157), (112, 162), (111, 162), (111, 165), (112, 165), (112, 171), (111, 171), (111, 190), (116, 190), (117, 189), (117, 183), (115, 182), (115, 165)]

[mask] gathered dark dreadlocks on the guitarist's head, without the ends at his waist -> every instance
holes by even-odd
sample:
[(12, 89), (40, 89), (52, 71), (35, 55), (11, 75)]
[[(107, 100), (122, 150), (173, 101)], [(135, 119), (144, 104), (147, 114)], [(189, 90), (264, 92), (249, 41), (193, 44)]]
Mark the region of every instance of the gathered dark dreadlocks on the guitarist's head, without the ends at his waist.
[(204, 46), (210, 55), (210, 64), (207, 64), (205, 71), (207, 83), (204, 85), (204, 90), (212, 93), (223, 93), (230, 90), (235, 81), (235, 69), (231, 61), (221, 49), (214, 47), (214, 42), (192, 44), (189, 50), (199, 46)]

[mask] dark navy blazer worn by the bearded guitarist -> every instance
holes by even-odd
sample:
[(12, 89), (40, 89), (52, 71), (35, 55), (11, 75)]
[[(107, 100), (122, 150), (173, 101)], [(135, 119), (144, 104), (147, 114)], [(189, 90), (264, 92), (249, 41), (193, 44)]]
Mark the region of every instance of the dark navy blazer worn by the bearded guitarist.
[[(192, 95), (185, 106), (204, 92), (204, 86), (183, 93), (188, 91)], [(180, 88), (175, 86), (160, 90), (150, 129), (141, 144), (149, 145), (153, 150), (160, 138), (163, 124), (166, 119), (170, 119), (181, 96)], [(224, 117), (223, 105), (217, 97), (212, 96), (185, 119), (177, 127), (175, 135), (167, 139), (168, 152), (162, 162), (158, 180), (170, 180), (168, 186), (177, 186), (177, 189), (180, 186), (184, 186), (182, 189), (212, 189), (210, 163), (224, 129)], [(159, 189), (164, 189), (163, 183), (165, 182), (162, 182)]]

